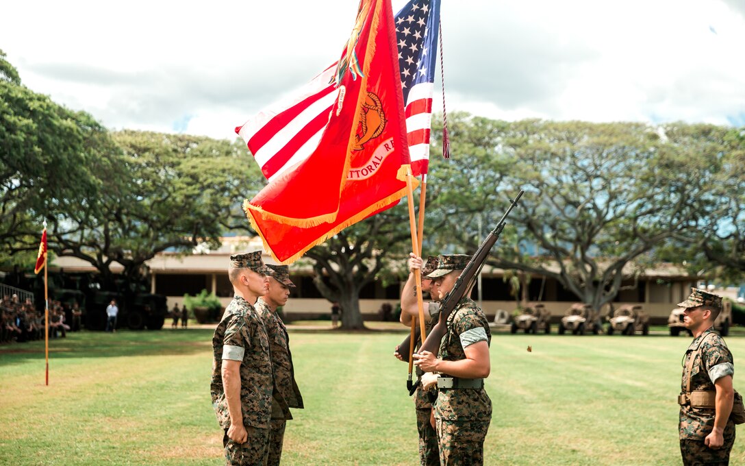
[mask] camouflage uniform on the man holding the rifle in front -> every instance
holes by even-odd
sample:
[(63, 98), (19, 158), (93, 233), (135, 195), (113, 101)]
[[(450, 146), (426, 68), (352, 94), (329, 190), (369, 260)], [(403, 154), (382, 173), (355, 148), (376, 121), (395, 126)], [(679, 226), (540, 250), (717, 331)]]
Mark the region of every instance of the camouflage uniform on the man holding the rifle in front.
[[(486, 341), (492, 334), (484, 312), (463, 297), (450, 313), (447, 333), (438, 357), (444, 361), (466, 359), (463, 345)], [(442, 374), (440, 377), (450, 377)], [(439, 388), (434, 403), (441, 465), (483, 465), (484, 439), (492, 419), (492, 400), (484, 388)]]

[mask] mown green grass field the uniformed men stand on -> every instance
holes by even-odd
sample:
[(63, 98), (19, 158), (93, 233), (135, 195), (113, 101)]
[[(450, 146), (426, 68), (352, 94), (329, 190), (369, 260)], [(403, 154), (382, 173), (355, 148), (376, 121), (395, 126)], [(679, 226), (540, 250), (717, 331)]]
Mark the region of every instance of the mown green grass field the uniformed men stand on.
[[(403, 336), (291, 330), (306, 409), (288, 422), (283, 464), (418, 464), (406, 365), (391, 356)], [(211, 339), (206, 328), (72, 333), (50, 342), (49, 386), (43, 341), (0, 347), (0, 464), (223, 464)], [(495, 334), (486, 464), (679, 465), (689, 342)], [(728, 344), (740, 367), (745, 338)], [(732, 464), (745, 464), (742, 440)]]

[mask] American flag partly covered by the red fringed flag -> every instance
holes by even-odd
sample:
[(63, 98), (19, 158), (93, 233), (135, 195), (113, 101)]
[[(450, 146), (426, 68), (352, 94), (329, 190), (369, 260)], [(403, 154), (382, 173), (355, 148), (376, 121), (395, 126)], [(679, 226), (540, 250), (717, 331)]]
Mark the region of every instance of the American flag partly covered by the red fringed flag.
[[(427, 172), (440, 28), (440, 0), (412, 0), (396, 15), (396, 40), (404, 93), (406, 129), (414, 174)], [(337, 98), (336, 63), (286, 101), (236, 127), (268, 180), (313, 154)]]

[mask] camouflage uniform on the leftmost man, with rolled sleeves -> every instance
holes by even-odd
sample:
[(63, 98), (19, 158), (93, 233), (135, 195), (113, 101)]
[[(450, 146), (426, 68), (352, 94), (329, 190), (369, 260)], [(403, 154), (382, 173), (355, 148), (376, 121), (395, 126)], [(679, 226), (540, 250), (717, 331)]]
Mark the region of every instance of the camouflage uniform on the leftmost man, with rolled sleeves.
[[(243, 297), (236, 296), (225, 309), (212, 337), (212, 407), (225, 430), (223, 445), (227, 465), (264, 465), (269, 447), (272, 411), (272, 362), (269, 339), (259, 315)], [(223, 359), (241, 361), (241, 413), (248, 432), (244, 444), (227, 436), (230, 415), (222, 380)]]

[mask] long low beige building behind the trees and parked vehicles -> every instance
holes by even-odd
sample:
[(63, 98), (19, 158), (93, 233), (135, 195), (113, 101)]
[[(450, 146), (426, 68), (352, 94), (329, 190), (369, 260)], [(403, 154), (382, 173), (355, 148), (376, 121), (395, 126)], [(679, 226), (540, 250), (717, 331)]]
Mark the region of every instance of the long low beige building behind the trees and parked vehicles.
[[(197, 248), (193, 254), (158, 254), (148, 261), (150, 292), (166, 295), (169, 309), (174, 303), (181, 306), (183, 295), (196, 295), (203, 289), (215, 293), (226, 306), (232, 298), (232, 286), (227, 274), (229, 256), (259, 249), (261, 239), (235, 236), (223, 238), (221, 248), (216, 251)], [(268, 254), (264, 254), (264, 262), (275, 263)], [(74, 257), (58, 257), (52, 267), (63, 268), (67, 272), (92, 271), (87, 262)], [(112, 271), (121, 271), (121, 268), (112, 267)], [(297, 289), (294, 289), (292, 299), (283, 309), (285, 315), (295, 319), (328, 315), (331, 303), (314, 286), (311, 265), (301, 259), (291, 265), (290, 272)], [(486, 266), (482, 271), (481, 305), (489, 318), (493, 318), (498, 309), (507, 312), (516, 309), (516, 300), (510, 296), (510, 285), (504, 282), (503, 277), (504, 271), (498, 268)], [(696, 283), (697, 277), (691, 277), (684, 270), (672, 265), (660, 265), (648, 269), (637, 277), (635, 283), (632, 280), (624, 283), (624, 289), (616, 297), (613, 306), (641, 304), (653, 324), (664, 324), (676, 303), (685, 300)], [(377, 318), (378, 309), (383, 303), (390, 303), (395, 308), (401, 287), (402, 283), (385, 287), (381, 283), (373, 283), (363, 289), (360, 310), (364, 317)], [(555, 317), (563, 315), (572, 303), (577, 302), (574, 294), (564, 289), (557, 280), (548, 277), (533, 276), (527, 294), (529, 300), (541, 300)], [(475, 297), (477, 295), (478, 289), (474, 293)]]

